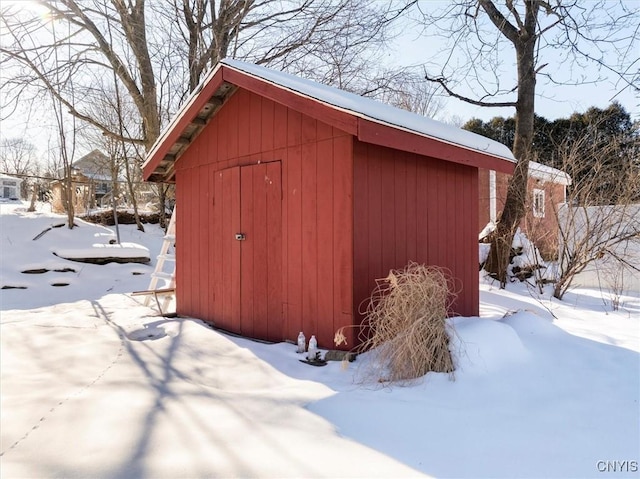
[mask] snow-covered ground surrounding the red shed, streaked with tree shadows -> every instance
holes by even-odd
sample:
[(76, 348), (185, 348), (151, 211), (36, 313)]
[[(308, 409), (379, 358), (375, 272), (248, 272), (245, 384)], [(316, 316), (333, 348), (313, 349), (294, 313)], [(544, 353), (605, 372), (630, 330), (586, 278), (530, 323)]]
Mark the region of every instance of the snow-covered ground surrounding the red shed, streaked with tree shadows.
[[(25, 209), (0, 204), (0, 287), (26, 288), (0, 290), (4, 478), (640, 477), (638, 297), (612, 311), (596, 290), (483, 284), (482, 318), (451, 320), (455, 381), (363, 385), (366, 356), (310, 367), (159, 317), (127, 294), (153, 265), (52, 254), (113, 228), (34, 241), (64, 219)], [(121, 234), (160, 249), (157, 227)]]

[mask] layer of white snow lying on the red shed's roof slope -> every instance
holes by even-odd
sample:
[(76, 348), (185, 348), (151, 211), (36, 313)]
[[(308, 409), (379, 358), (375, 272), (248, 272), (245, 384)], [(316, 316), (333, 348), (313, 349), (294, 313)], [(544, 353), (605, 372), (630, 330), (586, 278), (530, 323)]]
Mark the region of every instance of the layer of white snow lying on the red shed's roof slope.
[(515, 161), (511, 150), (502, 143), (417, 113), (259, 65), (227, 58), (222, 60), (222, 63), (323, 103), (348, 110), (360, 117), (377, 120), (458, 146)]

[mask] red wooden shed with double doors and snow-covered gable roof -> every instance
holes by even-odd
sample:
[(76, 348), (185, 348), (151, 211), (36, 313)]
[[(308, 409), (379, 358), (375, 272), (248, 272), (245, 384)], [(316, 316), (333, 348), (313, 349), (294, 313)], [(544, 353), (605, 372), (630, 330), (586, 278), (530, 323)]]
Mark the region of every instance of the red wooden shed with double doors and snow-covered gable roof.
[(477, 315), (478, 168), (513, 166), (484, 137), (224, 60), (143, 171), (176, 183), (179, 314), (331, 348), (375, 279), (411, 260), (450, 270), (454, 312)]

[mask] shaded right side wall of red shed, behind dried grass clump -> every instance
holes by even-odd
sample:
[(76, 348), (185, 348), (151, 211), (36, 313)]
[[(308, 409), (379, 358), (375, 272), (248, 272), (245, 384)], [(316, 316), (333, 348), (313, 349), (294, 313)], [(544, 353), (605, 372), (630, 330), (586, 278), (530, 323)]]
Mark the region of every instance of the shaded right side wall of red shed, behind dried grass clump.
[(477, 316), (477, 168), (356, 141), (354, 180), (356, 307), (413, 260), (450, 270), (454, 312)]

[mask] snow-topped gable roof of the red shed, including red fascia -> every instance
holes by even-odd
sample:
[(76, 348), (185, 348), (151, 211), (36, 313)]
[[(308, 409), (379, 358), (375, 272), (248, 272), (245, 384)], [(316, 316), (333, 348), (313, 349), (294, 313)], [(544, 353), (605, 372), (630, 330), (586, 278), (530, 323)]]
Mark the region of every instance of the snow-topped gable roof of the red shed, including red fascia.
[(160, 135), (143, 164), (144, 178), (171, 181), (175, 162), (237, 88), (270, 98), (365, 143), (513, 172), (511, 151), (496, 141), (311, 80), (224, 59)]

